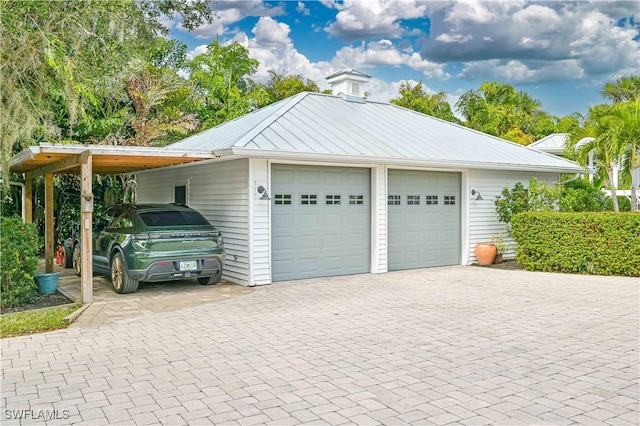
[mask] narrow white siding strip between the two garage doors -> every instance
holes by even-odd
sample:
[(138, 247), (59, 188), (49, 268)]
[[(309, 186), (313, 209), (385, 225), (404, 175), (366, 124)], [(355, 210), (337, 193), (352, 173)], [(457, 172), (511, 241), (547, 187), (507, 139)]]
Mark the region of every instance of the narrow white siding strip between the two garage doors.
[(387, 166), (371, 168), (371, 272), (387, 272)]

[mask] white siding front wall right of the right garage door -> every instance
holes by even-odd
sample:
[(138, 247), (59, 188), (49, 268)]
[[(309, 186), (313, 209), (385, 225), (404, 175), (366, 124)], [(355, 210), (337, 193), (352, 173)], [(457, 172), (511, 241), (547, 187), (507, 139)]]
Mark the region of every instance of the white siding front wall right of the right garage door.
[[(491, 236), (497, 236), (500, 231), (504, 232), (505, 241), (511, 246), (504, 257), (507, 259), (515, 257), (514, 243), (507, 235), (504, 223), (498, 221), (493, 200), (500, 195), (505, 186), (512, 188), (516, 182), (522, 182), (525, 187), (528, 187), (532, 176), (536, 176), (539, 182), (558, 181), (558, 175), (555, 173), (469, 171), (469, 186), (466, 192), (469, 200), (469, 264), (478, 261), (474, 253), (476, 244), (491, 241)], [(483, 200), (476, 200), (475, 196), (471, 195), (472, 189), (480, 191)]]

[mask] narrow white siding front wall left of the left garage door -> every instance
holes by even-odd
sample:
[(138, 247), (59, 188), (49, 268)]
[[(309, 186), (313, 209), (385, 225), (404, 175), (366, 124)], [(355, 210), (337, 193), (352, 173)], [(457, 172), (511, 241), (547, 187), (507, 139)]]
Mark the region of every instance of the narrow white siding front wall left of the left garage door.
[(258, 193), (260, 185), (267, 189), (270, 197), (271, 173), (268, 160), (252, 158), (249, 160), (250, 204), (250, 240), (251, 278), (250, 285), (271, 283), (271, 202), (261, 200)]

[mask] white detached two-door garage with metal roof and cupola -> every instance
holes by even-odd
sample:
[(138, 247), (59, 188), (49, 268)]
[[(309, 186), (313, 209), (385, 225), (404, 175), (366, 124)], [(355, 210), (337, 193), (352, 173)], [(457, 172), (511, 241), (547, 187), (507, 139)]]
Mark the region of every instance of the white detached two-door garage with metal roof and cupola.
[(338, 96), (300, 93), (171, 145), (216, 158), (139, 172), (138, 201), (201, 211), (224, 236), (224, 277), (253, 286), (474, 263), (476, 243), (504, 230), (505, 186), (584, 171), (366, 101), (367, 78), (334, 74)]

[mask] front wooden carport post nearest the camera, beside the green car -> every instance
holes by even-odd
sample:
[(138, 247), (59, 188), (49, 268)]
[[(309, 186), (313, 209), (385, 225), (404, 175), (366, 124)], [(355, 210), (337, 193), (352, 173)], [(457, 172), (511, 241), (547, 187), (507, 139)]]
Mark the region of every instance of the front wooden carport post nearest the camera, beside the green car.
[(93, 302), (93, 245), (91, 243), (91, 227), (93, 225), (93, 193), (91, 188), (91, 180), (93, 179), (92, 156), (83, 155), (80, 165), (80, 223), (82, 234), (82, 263), (81, 263), (81, 280), (82, 280), (82, 302)]

